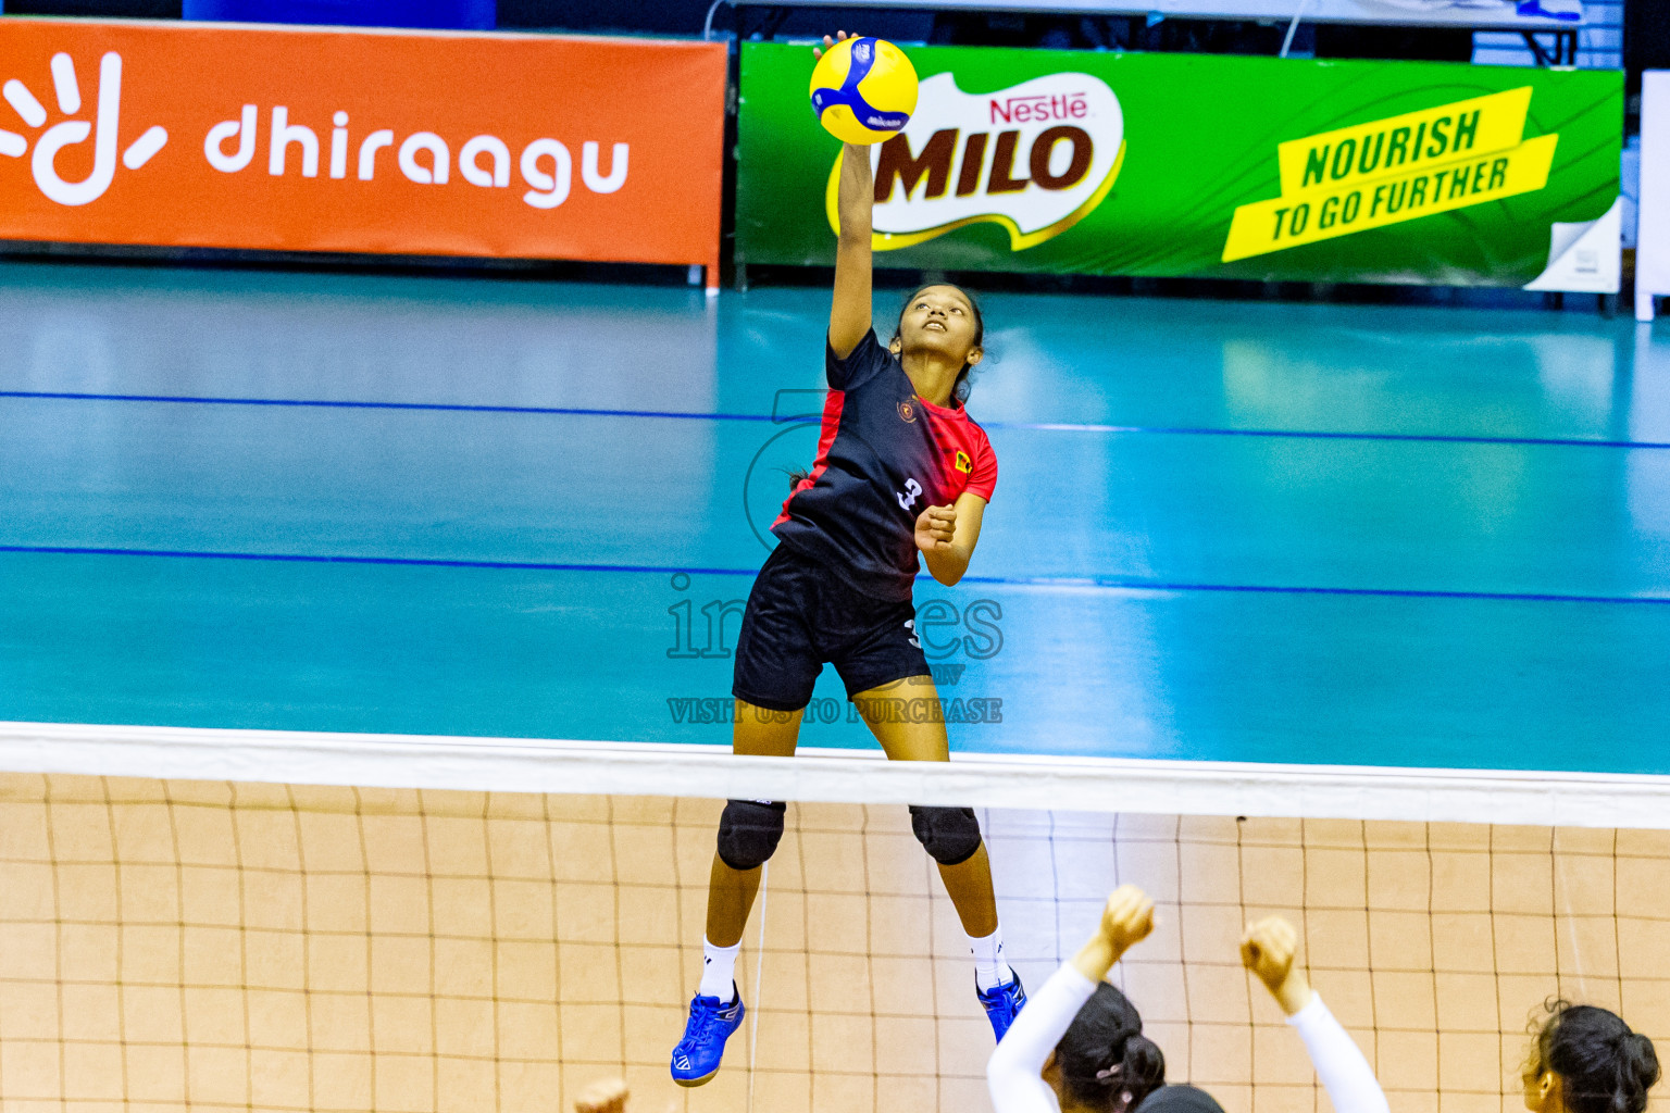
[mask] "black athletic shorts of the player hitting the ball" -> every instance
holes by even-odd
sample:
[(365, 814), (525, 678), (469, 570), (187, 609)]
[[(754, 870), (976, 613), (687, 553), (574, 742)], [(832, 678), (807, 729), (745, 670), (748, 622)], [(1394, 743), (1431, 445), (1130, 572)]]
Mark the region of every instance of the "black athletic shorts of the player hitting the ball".
[(812, 703), (825, 661), (840, 672), (848, 699), (929, 676), (915, 619), (912, 601), (872, 599), (778, 544), (748, 592), (731, 694), (768, 711), (800, 711)]

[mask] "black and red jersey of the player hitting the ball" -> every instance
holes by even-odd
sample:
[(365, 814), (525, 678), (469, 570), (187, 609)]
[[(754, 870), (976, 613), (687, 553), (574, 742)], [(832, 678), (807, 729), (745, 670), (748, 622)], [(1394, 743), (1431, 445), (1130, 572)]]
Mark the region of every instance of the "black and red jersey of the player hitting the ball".
[(795, 486), (772, 532), (865, 594), (908, 599), (917, 577), (917, 517), (997, 486), (992, 442), (962, 405), (917, 397), (910, 375), (865, 334), (847, 359), (825, 345), (830, 394), (812, 474)]

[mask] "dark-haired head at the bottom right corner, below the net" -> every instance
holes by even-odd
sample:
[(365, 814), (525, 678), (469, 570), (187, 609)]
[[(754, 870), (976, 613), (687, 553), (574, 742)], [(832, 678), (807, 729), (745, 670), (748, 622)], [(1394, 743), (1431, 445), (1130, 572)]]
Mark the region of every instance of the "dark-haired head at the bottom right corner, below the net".
[(1560, 1076), (1570, 1113), (1643, 1113), (1658, 1081), (1653, 1041), (1617, 1013), (1593, 1005), (1548, 1001), (1536, 1033), (1536, 1073)]

